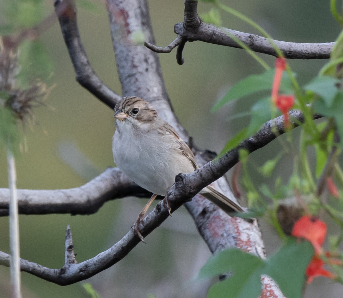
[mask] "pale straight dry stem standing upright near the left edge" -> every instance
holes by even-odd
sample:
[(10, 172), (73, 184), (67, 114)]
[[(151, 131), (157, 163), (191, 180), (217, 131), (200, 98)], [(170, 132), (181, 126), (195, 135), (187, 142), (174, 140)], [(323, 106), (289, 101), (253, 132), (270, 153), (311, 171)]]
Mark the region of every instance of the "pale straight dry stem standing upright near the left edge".
[(20, 281), (20, 253), (19, 253), (19, 219), (18, 219), (18, 202), (16, 190), (16, 173), (14, 156), (10, 148), (7, 150), (8, 164), (8, 184), (10, 188), (10, 272), (12, 297), (21, 297)]

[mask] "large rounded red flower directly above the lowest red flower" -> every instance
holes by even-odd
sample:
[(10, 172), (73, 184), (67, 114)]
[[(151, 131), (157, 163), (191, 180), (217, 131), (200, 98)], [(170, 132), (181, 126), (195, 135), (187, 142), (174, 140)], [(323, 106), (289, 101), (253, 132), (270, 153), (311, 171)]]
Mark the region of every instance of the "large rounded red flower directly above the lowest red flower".
[(326, 231), (326, 223), (314, 216), (304, 215), (294, 224), (292, 236), (310, 241), (316, 253), (321, 254)]

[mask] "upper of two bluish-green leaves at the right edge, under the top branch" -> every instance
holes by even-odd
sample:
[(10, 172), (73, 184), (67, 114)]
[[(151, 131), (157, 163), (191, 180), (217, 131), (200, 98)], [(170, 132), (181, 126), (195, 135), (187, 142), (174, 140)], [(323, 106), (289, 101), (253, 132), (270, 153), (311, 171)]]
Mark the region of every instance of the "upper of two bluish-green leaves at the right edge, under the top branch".
[(332, 105), (333, 99), (338, 92), (336, 84), (340, 81), (330, 76), (317, 76), (304, 89), (318, 94), (328, 107)]

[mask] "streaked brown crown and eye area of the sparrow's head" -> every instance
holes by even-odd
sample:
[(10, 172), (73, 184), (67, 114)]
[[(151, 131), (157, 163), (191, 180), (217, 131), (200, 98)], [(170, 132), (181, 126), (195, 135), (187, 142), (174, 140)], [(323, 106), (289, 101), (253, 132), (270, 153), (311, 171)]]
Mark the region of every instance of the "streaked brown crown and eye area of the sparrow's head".
[[(150, 102), (145, 101), (140, 97), (126, 96), (117, 102), (114, 111), (121, 110), (128, 116), (137, 119), (141, 122), (151, 122), (157, 117), (157, 112)], [(135, 112), (138, 113), (136, 114)]]

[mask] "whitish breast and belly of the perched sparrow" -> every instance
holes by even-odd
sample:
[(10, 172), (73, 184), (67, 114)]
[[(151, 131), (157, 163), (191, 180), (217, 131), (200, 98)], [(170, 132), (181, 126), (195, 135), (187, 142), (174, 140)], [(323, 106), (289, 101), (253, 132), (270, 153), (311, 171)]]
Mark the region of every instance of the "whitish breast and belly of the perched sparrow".
[(173, 136), (161, 134), (144, 124), (141, 131), (130, 123), (118, 123), (113, 136), (114, 161), (135, 183), (154, 194), (165, 196), (179, 173), (193, 171)]

